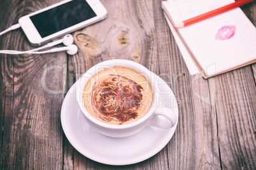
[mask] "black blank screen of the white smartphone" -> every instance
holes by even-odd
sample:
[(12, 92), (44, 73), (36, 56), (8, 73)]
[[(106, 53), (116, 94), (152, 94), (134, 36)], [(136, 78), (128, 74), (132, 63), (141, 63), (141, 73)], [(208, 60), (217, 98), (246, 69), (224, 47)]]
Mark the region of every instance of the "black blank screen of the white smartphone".
[(85, 0), (73, 0), (30, 16), (40, 36), (46, 37), (96, 16)]

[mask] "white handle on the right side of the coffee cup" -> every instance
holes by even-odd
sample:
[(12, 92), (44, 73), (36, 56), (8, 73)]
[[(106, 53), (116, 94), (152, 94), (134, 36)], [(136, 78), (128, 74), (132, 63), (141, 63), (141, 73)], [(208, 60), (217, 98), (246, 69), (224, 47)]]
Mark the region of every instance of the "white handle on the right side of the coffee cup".
[(153, 117), (149, 125), (161, 129), (169, 129), (173, 128), (177, 120), (177, 116), (173, 110), (166, 107), (158, 107), (155, 109), (155, 112), (153, 112)]

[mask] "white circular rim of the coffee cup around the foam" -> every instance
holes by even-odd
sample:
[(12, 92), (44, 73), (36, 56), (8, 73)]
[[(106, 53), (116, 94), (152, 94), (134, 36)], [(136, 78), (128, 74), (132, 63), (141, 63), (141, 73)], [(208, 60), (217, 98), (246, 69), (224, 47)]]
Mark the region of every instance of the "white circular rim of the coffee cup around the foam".
[[(83, 103), (83, 89), (84, 89), (85, 85), (87, 84), (87, 82), (89, 81), (90, 77), (97, 74), (96, 67), (98, 67), (98, 66), (99, 67), (102, 66), (103, 69), (106, 68), (106, 66), (108, 66), (108, 67), (121, 66), (121, 67), (126, 67), (128, 69), (136, 70), (140, 74), (147, 75), (147, 77), (145, 77), (145, 78), (150, 83), (150, 86), (153, 89), (153, 100), (152, 100), (152, 105), (151, 105), (150, 109), (143, 117), (141, 117), (137, 121), (134, 121), (134, 122), (131, 122), (128, 124), (108, 124), (108, 123), (101, 122), (101, 121), (97, 120), (95, 117), (93, 117), (88, 112), (88, 110), (85, 108), (84, 103)], [(139, 69), (138, 69), (138, 67), (139, 67)], [(101, 70), (103, 70), (103, 69), (101, 69)], [(139, 70), (142, 70), (142, 71), (139, 71)], [(89, 119), (91, 122), (94, 122), (94, 124), (97, 124), (98, 126), (101, 126), (103, 128), (108, 128), (108, 129), (131, 128), (131, 127), (137, 126), (138, 124), (141, 124), (142, 122), (146, 121), (153, 114), (155, 108), (157, 108), (153, 105), (153, 102), (159, 96), (159, 92), (157, 91), (156, 81), (154, 81), (153, 77), (155, 77), (155, 76), (153, 76), (153, 72), (146, 69), (146, 67), (144, 67), (143, 65), (136, 63), (136, 62), (132, 62), (131, 60), (114, 59), (114, 60), (107, 60), (107, 61), (104, 61), (101, 63), (97, 63), (96, 65), (91, 67), (89, 70), (87, 70), (87, 72), (85, 72), (85, 74), (83, 74), (82, 77), (78, 80), (79, 81), (78, 84), (81, 85), (83, 78), (87, 78), (86, 82), (82, 82), (82, 84), (84, 84), (83, 89), (82, 90), (80, 89), (80, 87), (81, 87), (80, 85), (78, 85), (78, 89), (76, 89), (76, 101), (78, 103), (80, 110), (85, 115), (85, 117), (87, 117), (87, 119)], [(81, 94), (81, 92), (82, 92), (82, 94)]]

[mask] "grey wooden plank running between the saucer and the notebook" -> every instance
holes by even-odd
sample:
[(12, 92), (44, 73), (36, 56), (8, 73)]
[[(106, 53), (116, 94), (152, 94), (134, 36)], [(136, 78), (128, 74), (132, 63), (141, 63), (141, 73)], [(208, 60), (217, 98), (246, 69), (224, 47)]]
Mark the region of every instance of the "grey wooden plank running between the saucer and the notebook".
[(160, 7), (154, 3), (160, 75), (179, 105), (179, 122), (168, 145), (170, 169), (220, 169), (214, 89), (200, 74), (190, 75)]

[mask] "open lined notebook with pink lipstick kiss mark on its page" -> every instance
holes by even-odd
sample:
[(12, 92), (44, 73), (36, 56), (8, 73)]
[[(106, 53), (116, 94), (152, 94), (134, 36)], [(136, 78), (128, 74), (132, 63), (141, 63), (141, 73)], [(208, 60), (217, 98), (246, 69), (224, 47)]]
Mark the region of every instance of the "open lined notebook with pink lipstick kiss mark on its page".
[[(162, 9), (168, 22), (176, 25), (232, 2), (168, 0)], [(205, 79), (256, 62), (256, 28), (240, 8), (173, 31)]]

